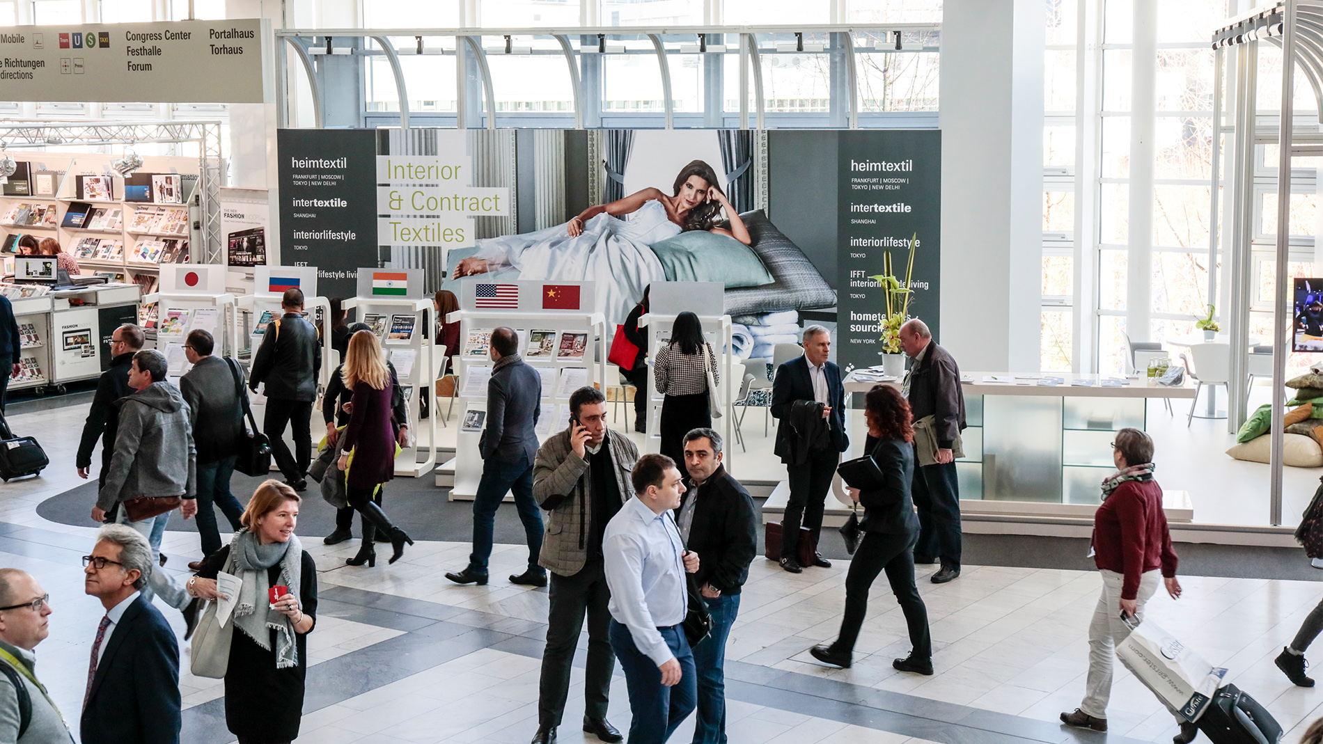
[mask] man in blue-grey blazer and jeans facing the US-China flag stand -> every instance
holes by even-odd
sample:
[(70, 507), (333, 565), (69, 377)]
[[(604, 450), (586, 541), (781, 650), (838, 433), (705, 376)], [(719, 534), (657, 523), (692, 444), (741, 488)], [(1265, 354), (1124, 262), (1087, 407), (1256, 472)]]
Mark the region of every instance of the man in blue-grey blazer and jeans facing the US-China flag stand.
[(479, 441), (483, 477), (474, 497), (474, 552), (463, 571), (446, 574), (446, 577), (456, 584), (487, 583), (496, 509), (507, 493), (513, 493), (528, 538), (528, 570), (509, 580), (545, 587), (546, 572), (537, 564), (537, 554), (542, 550), (542, 515), (533, 501), (533, 457), (537, 453), (533, 427), (541, 411), (542, 375), (520, 358), (519, 334), (513, 328), (492, 332), (491, 357), (495, 365), (487, 381), (487, 428)]

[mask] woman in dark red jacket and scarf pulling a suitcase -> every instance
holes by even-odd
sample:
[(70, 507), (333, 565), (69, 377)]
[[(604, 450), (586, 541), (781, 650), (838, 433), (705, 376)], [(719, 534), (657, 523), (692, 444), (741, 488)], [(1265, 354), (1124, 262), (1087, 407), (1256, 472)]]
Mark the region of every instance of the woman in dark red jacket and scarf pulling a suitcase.
[[(1090, 552), (1102, 574), (1102, 596), (1089, 624), (1085, 696), (1074, 712), (1061, 714), (1062, 723), (1094, 731), (1107, 731), (1113, 650), (1130, 634), (1121, 613), (1143, 620), (1144, 604), (1159, 583), (1166, 583), (1172, 599), (1180, 597), (1162, 488), (1154, 480), (1154, 440), (1136, 428), (1123, 428), (1111, 443), (1111, 459), (1117, 472), (1103, 478), (1102, 505), (1093, 518)], [(1174, 741), (1187, 744), (1197, 733), (1195, 724), (1181, 723)]]

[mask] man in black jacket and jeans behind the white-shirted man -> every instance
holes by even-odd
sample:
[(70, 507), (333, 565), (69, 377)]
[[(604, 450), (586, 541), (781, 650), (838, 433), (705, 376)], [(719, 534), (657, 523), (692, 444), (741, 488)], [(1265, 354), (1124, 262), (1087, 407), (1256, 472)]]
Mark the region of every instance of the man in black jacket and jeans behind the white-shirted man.
[(712, 613), (712, 634), (693, 649), (699, 671), (699, 719), (693, 744), (726, 740), (726, 637), (740, 613), (740, 589), (758, 552), (753, 498), (721, 464), (721, 435), (696, 428), (684, 435), (688, 490), (680, 496), (676, 526), (684, 547), (699, 554), (693, 575)]

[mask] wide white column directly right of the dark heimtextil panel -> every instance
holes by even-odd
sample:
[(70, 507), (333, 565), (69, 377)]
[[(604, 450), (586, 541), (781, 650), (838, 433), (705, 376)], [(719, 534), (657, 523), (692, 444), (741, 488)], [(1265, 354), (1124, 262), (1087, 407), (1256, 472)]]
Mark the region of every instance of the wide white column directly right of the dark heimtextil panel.
[(943, 8), (939, 342), (963, 369), (1039, 369), (1044, 24), (1029, 0)]

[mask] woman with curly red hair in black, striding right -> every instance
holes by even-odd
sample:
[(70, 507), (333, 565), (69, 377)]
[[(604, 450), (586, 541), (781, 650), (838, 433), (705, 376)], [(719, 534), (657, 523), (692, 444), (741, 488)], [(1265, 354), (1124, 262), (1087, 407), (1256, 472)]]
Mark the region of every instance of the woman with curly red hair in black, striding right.
[(877, 385), (864, 396), (868, 419), (869, 453), (881, 470), (881, 482), (863, 489), (849, 489), (851, 498), (864, 506), (860, 527), (864, 539), (845, 576), (845, 617), (836, 642), (810, 649), (823, 663), (848, 667), (859, 629), (868, 612), (868, 591), (873, 580), (886, 571), (886, 580), (905, 613), (913, 650), (892, 666), (900, 671), (933, 674), (933, 640), (927, 629), (927, 608), (914, 585), (914, 543), (918, 540), (918, 517), (910, 500), (914, 477), (914, 428), (909, 403), (900, 390)]

